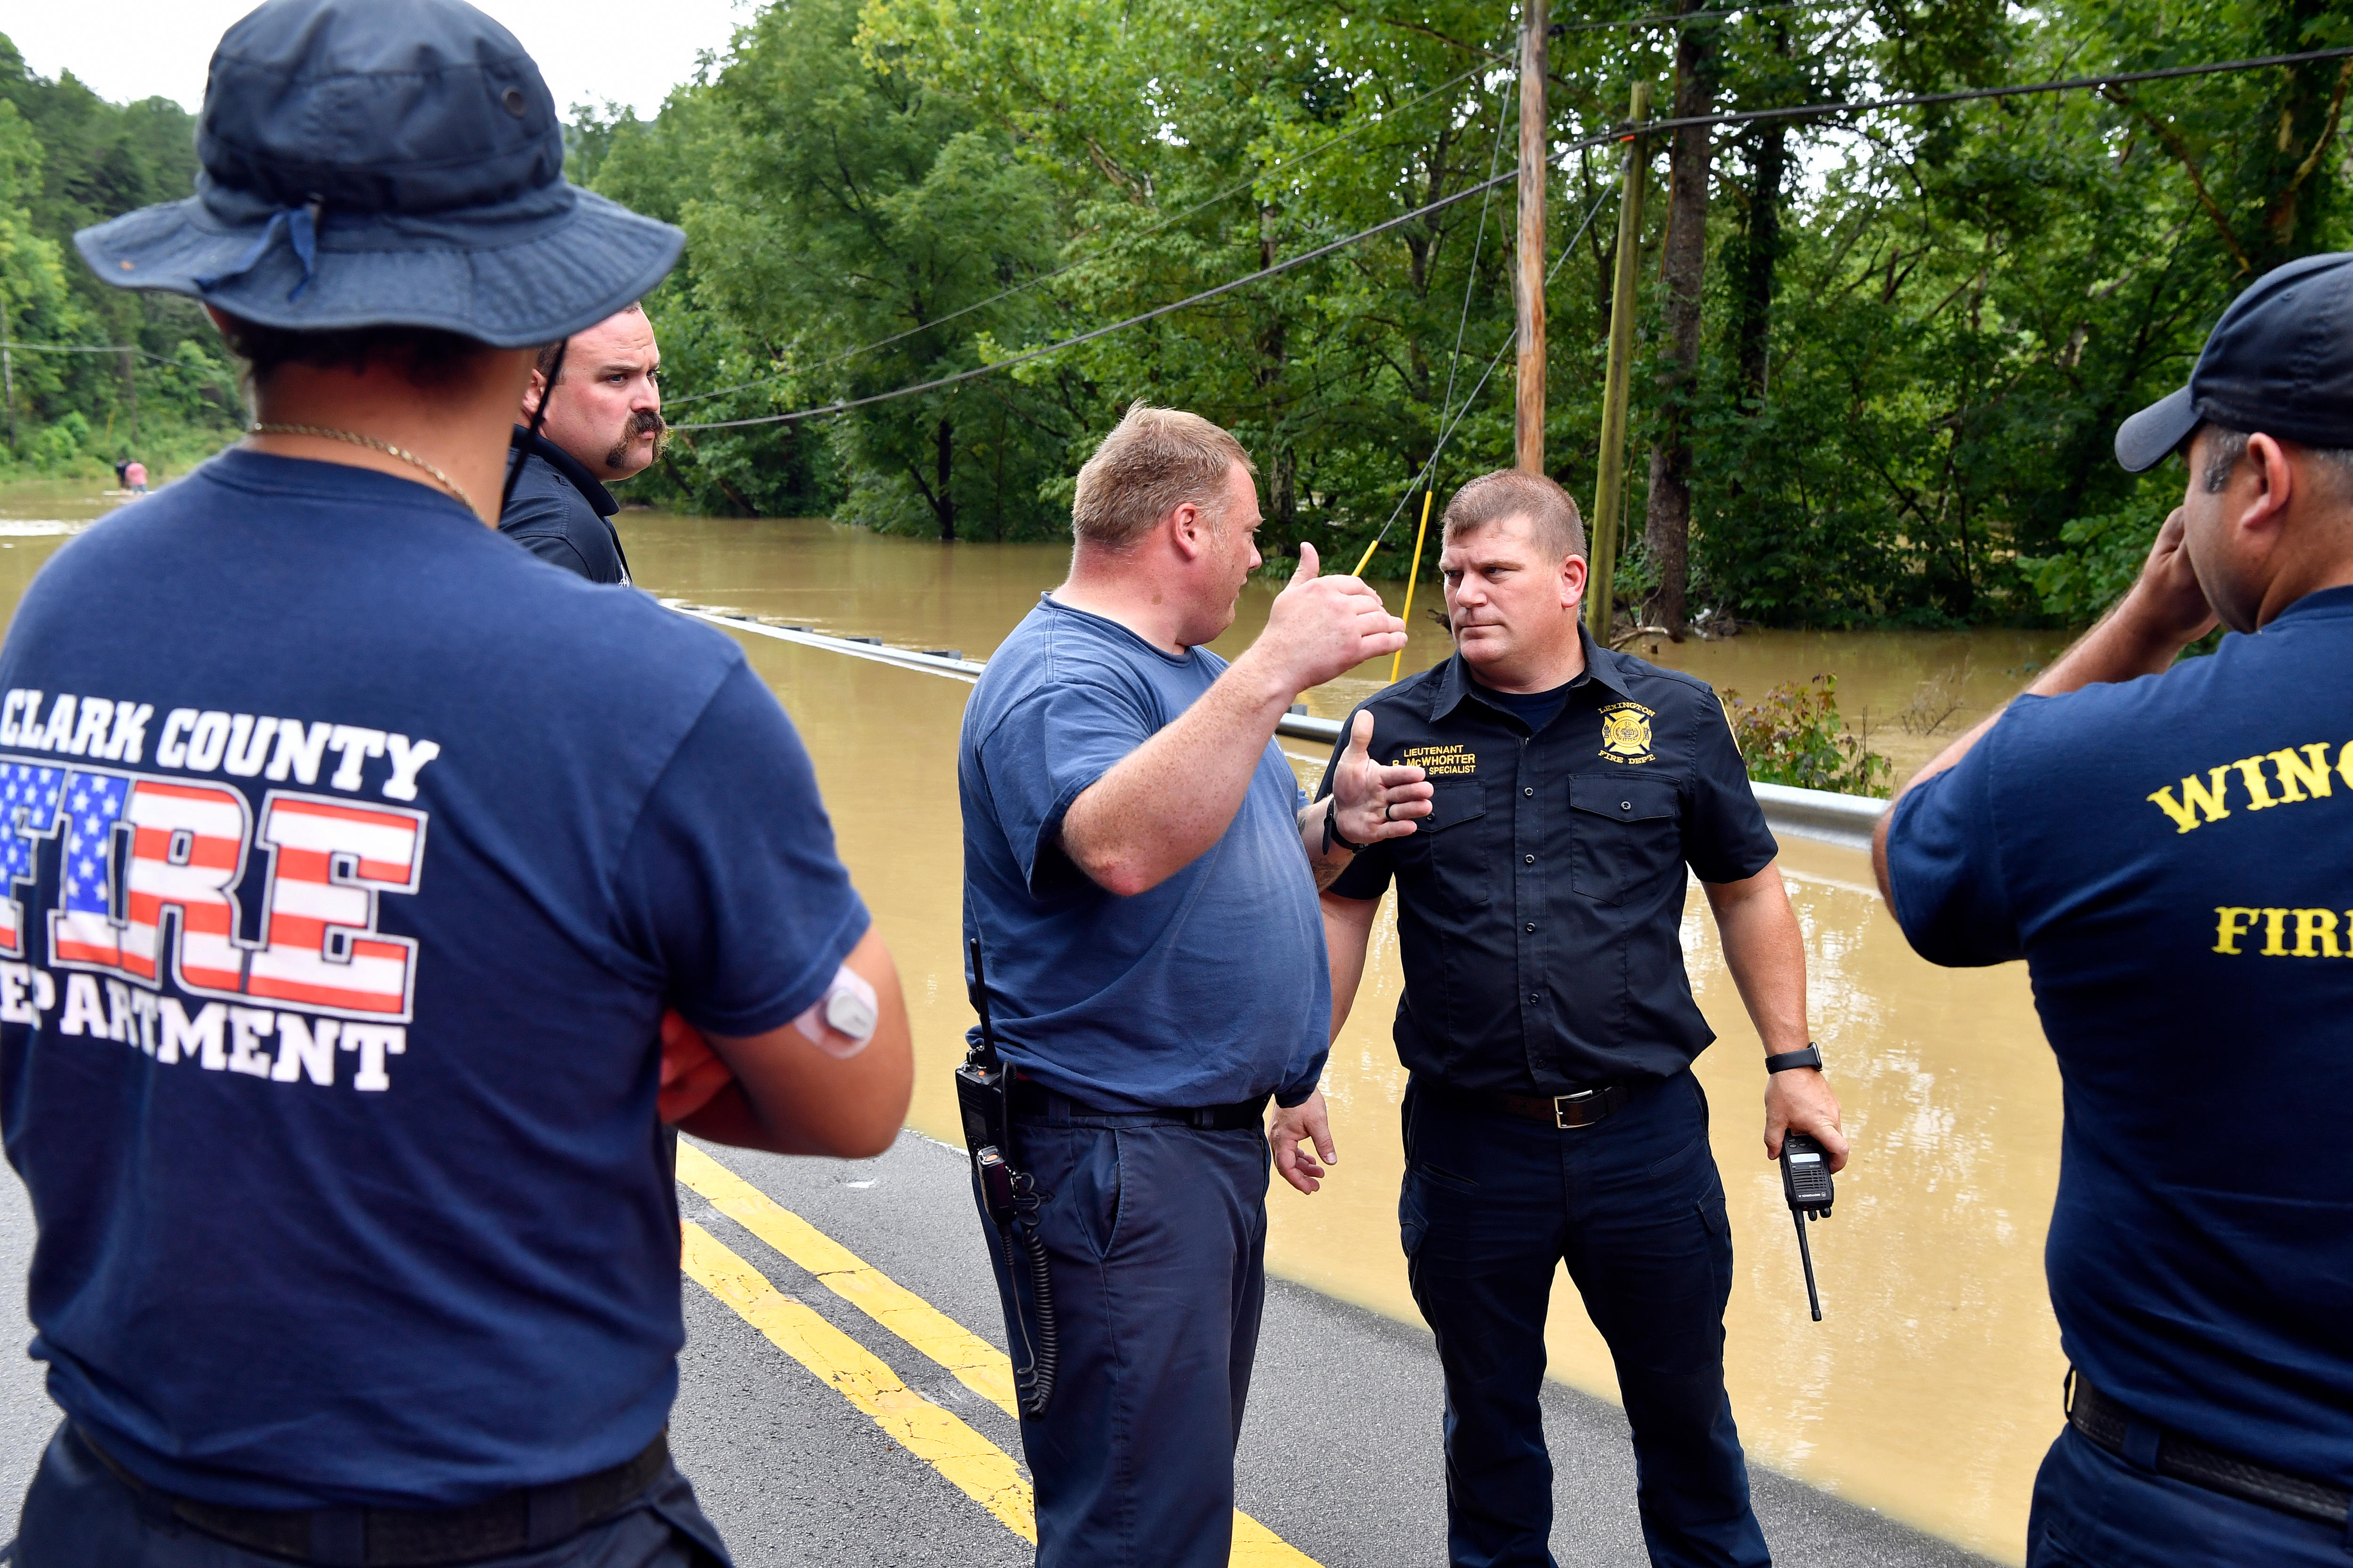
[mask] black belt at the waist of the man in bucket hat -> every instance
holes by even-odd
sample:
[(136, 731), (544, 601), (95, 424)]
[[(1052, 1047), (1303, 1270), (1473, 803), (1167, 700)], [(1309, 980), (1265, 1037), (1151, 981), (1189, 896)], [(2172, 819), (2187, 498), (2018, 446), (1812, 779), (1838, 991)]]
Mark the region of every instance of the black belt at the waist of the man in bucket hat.
[(92, 1443), (87, 1432), (73, 1432), (118, 1481), (167, 1505), (184, 1523), (233, 1547), (318, 1568), (440, 1568), (553, 1547), (626, 1509), (671, 1467), (664, 1432), (645, 1453), (612, 1469), (459, 1509), (233, 1509), (148, 1486)]

